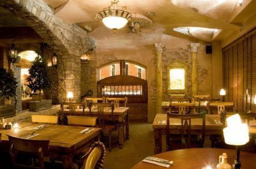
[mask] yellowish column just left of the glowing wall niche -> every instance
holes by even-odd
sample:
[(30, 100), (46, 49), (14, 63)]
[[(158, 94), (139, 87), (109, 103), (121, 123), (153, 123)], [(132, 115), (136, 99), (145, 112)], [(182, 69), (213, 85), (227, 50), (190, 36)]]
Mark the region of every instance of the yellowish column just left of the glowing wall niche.
[(155, 43), (155, 51), (157, 56), (157, 113), (162, 113), (163, 100), (163, 71), (162, 71), (162, 54), (164, 44)]

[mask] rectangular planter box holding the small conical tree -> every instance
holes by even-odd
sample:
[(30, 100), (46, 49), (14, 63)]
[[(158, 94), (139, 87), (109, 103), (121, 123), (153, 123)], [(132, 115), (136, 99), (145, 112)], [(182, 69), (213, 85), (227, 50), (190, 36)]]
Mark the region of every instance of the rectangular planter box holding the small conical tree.
[(46, 110), (52, 108), (52, 100), (42, 100), (29, 102), (29, 111), (38, 112), (41, 110)]

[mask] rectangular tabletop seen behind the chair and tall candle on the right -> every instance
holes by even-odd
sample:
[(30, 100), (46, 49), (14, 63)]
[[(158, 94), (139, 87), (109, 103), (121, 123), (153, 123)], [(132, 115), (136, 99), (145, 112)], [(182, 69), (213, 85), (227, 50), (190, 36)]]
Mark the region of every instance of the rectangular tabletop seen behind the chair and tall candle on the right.
[[(160, 120), (165, 120), (165, 123), (159, 124)], [(207, 114), (205, 116), (205, 129), (222, 129), (222, 124), (215, 123), (215, 120), (220, 120), (220, 114)], [(167, 124), (167, 114), (156, 114), (153, 122), (153, 129), (165, 129)], [(250, 120), (250, 126), (256, 126), (256, 120)], [(170, 118), (170, 128), (177, 128), (181, 125), (180, 119)], [(192, 129), (202, 129), (202, 119), (191, 120)], [(256, 129), (253, 129), (256, 133)]]

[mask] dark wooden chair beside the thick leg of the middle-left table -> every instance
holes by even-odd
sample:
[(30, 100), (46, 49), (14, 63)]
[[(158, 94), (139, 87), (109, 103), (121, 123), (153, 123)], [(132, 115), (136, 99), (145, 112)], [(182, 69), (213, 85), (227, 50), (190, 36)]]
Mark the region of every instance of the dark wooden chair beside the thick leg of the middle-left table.
[[(102, 133), (108, 133), (109, 139), (109, 151), (111, 151), (112, 132), (118, 130), (118, 122), (114, 118), (114, 103), (93, 103), (89, 102), (89, 112), (92, 114), (92, 107), (97, 107), (98, 124), (96, 127), (102, 128)], [(106, 115), (104, 115), (104, 107), (111, 107), (111, 120), (107, 121)]]

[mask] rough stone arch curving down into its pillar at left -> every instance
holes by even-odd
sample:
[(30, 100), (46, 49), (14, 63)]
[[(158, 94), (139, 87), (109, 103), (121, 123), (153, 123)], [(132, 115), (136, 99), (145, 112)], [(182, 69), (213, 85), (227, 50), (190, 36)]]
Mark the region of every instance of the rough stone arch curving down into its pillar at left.
[(81, 93), (80, 56), (95, 47), (94, 40), (77, 25), (67, 24), (56, 17), (53, 9), (42, 0), (6, 0), (0, 4), (25, 20), (46, 43), (54, 42), (54, 50), (64, 61), (66, 89), (73, 91), (74, 100), (78, 100)]

